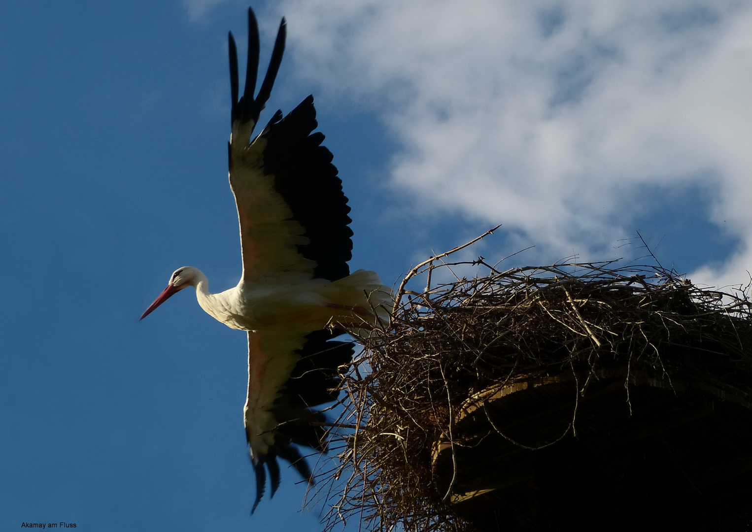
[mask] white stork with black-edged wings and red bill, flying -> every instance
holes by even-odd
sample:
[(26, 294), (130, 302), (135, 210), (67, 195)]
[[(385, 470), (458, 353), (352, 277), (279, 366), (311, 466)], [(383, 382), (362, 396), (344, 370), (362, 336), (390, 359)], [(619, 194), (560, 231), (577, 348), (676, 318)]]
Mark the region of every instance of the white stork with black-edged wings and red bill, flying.
[(248, 393), (245, 434), (261, 500), (268, 470), (271, 495), (280, 482), (277, 457), (308, 482), (311, 470), (293, 444), (326, 450), (323, 413), (311, 410), (335, 401), (338, 367), (353, 356), (353, 344), (334, 340), (349, 329), (368, 329), (384, 316), (390, 290), (378, 274), (350, 274), (350, 207), (342, 193), (332, 153), (321, 146), (314, 98), (290, 114), (277, 110), (251, 141), (269, 98), (284, 52), (287, 26), (280, 23), (271, 61), (256, 98), (259, 29), (248, 9), (245, 87), (238, 100), (238, 52), (229, 34), (232, 133), (229, 181), (240, 222), (243, 274), (235, 288), (211, 294), (197, 268), (178, 268), (144, 319), (171, 295), (196, 287), (199, 305), (230, 328), (248, 334)]

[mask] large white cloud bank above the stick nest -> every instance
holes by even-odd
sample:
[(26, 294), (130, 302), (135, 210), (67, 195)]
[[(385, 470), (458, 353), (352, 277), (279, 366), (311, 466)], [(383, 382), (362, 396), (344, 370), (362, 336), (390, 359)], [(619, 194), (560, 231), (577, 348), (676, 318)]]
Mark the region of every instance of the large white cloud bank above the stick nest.
[[(552, 252), (633, 230), (635, 191), (717, 189), (752, 267), (752, 7), (739, 2), (287, 0), (296, 70), (371, 107), (417, 203)], [(724, 277), (726, 276), (726, 277)]]

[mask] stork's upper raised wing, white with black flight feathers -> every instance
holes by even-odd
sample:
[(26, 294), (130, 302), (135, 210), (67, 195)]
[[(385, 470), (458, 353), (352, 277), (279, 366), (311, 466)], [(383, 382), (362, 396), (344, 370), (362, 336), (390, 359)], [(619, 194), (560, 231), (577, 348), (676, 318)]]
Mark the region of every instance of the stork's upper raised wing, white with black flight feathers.
[(250, 9), (248, 13), (248, 70), (240, 100), (237, 51), (230, 34), (229, 180), (238, 207), (243, 280), (294, 283), (347, 277), (353, 246), (350, 207), (332, 153), (321, 146), (323, 134), (312, 135), (317, 127), (313, 96), (284, 118), (277, 111), (250, 142), (282, 60), (286, 26), (283, 19), (262, 88), (253, 98), (259, 42), (256, 18)]

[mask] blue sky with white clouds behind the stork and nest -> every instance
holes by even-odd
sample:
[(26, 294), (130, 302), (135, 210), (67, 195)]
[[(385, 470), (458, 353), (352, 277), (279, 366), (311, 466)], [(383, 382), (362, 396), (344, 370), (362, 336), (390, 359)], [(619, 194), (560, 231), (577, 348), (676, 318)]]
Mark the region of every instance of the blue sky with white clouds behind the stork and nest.
[[(283, 488), (253, 517), (245, 338), (175, 268), (237, 283), (226, 32), (247, 4), (0, 3), (0, 527), (318, 530)], [(644, 255), (752, 268), (752, 3), (283, 0), (254, 5), (268, 107), (313, 93), (353, 208), (351, 267), (432, 249), (515, 264)], [(627, 243), (626, 246), (623, 244)]]

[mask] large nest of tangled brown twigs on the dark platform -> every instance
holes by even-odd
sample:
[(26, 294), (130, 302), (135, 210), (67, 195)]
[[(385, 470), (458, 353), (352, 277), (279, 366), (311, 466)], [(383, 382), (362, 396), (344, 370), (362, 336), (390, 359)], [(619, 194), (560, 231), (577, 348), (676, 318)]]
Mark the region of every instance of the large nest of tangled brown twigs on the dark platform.
[[(497, 271), (479, 259), (489, 274), (432, 287), (431, 274), (468, 264), (440, 259), (408, 275), (392, 322), (362, 338), (344, 378), (338, 426), (350, 431), (329, 476), (328, 528), (353, 517), (371, 530), (472, 530), (435, 487), (432, 446), (452, 439), (457, 410), (490, 385), (571, 371), (586, 395), (598, 370), (626, 366), (752, 394), (749, 286), (701, 289), (613, 262)], [(426, 290), (406, 290), (420, 272)]]

